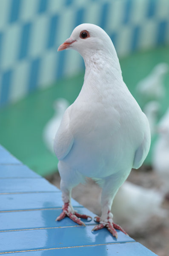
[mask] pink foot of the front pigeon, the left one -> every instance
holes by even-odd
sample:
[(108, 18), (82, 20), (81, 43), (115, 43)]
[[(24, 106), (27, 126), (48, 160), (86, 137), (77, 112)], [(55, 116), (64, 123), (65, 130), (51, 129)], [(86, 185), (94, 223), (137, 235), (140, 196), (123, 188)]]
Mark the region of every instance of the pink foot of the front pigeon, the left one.
[(80, 220), (80, 218), (84, 218), (84, 219), (91, 218), (92, 219), (92, 217), (85, 215), (85, 214), (80, 214), (77, 212), (72, 213), (71, 207), (69, 207), (69, 202), (64, 204), (63, 212), (56, 218), (56, 221), (60, 221), (63, 218), (65, 218), (66, 216), (69, 217), (72, 221), (76, 222), (77, 224), (83, 225), (83, 226), (86, 226), (86, 225), (84, 224), (83, 221)]

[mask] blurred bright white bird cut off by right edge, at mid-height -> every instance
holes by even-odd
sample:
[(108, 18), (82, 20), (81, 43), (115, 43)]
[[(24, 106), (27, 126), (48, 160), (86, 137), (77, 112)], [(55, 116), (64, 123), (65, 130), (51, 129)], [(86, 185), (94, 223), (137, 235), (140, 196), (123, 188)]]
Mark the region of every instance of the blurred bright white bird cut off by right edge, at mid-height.
[(159, 122), (159, 137), (155, 143), (152, 165), (162, 181), (162, 191), (169, 192), (169, 109)]

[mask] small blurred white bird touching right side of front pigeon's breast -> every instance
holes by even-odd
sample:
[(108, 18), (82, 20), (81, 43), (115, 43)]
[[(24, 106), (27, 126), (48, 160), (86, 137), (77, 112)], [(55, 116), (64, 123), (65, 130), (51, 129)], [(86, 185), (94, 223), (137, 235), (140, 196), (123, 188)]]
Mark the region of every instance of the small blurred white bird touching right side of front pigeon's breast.
[(156, 134), (156, 125), (158, 122), (158, 114), (160, 112), (160, 103), (158, 101), (150, 101), (146, 103), (143, 108), (143, 112), (149, 120), (151, 136)]

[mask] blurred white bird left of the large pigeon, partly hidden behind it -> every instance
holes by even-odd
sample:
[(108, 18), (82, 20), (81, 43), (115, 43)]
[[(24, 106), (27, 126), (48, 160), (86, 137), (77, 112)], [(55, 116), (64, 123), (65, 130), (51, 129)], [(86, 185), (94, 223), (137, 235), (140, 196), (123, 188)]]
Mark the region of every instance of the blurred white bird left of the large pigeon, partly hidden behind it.
[(43, 141), (46, 147), (54, 154), (53, 143), (56, 131), (58, 130), (63, 114), (66, 108), (69, 107), (69, 102), (66, 99), (59, 98), (54, 101), (54, 116), (50, 119), (43, 129)]

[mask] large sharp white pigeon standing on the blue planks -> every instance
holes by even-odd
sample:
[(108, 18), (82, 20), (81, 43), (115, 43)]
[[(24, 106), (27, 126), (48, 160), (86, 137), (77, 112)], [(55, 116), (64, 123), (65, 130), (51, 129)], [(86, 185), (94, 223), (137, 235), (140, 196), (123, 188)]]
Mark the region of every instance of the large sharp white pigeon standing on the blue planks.
[(84, 224), (71, 204), (74, 186), (91, 177), (102, 186), (100, 222), (93, 230), (108, 228), (125, 231), (113, 222), (113, 199), (132, 168), (139, 168), (150, 147), (150, 129), (146, 115), (129, 92), (120, 69), (114, 45), (99, 26), (77, 26), (58, 51), (75, 49), (85, 62), (83, 87), (66, 109), (54, 139), (59, 160), (63, 212), (78, 224)]

